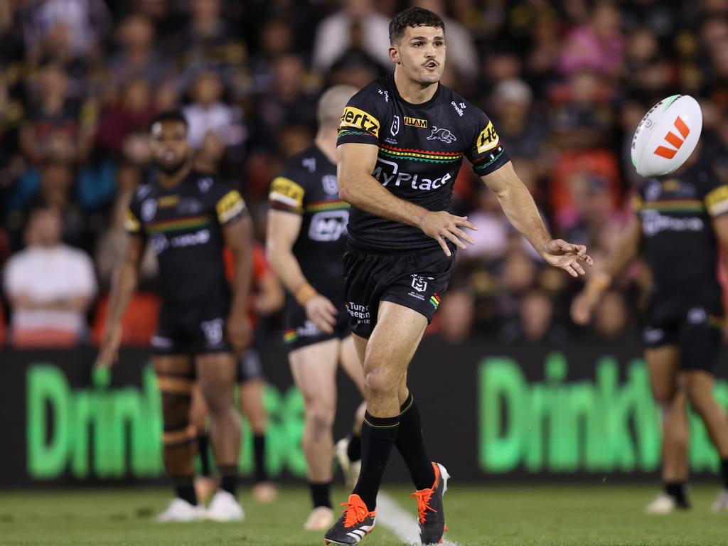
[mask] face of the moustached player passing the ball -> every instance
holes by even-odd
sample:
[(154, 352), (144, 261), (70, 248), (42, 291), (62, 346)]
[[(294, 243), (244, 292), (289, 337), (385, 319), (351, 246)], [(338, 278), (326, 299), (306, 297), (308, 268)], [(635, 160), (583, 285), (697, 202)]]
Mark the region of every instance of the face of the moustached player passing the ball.
[(434, 26), (409, 26), (390, 55), (405, 76), (421, 84), (440, 81), (445, 69), (445, 33)]

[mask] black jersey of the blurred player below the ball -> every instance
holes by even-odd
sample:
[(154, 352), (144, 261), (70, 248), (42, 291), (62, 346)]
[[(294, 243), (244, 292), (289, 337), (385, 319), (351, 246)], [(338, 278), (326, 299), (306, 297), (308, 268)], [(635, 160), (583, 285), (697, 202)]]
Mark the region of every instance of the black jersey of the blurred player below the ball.
[(656, 293), (720, 298), (712, 218), (728, 212), (728, 186), (705, 156), (679, 175), (644, 181), (633, 198)]

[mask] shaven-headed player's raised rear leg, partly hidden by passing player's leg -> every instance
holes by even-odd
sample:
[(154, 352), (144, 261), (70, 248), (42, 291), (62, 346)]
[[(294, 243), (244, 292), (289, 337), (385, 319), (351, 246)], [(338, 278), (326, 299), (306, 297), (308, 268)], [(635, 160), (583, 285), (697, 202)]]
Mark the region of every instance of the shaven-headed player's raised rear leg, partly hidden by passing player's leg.
[[(352, 336), (341, 341), (341, 368), (354, 381), (354, 384), (364, 395), (364, 370), (362, 368), (363, 355), (360, 359), (357, 355), (357, 349)], [(361, 453), (362, 453), (362, 423), (364, 422), (364, 414), (366, 404), (361, 403), (354, 415), (354, 423), (352, 432), (347, 438), (341, 438), (336, 443), (336, 459), (339, 461), (341, 472), (344, 473), (344, 482), (349, 491), (354, 488), (359, 478), (361, 469)]]

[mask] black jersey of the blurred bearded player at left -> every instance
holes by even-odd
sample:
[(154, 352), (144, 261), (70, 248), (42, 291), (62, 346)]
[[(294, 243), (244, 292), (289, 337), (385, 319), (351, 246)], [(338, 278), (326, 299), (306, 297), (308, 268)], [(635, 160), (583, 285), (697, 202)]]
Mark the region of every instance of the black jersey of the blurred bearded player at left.
[(165, 303), (229, 296), (223, 264), (222, 226), (245, 215), (232, 186), (191, 171), (177, 186), (139, 186), (125, 218), (128, 232), (149, 237), (157, 254)]

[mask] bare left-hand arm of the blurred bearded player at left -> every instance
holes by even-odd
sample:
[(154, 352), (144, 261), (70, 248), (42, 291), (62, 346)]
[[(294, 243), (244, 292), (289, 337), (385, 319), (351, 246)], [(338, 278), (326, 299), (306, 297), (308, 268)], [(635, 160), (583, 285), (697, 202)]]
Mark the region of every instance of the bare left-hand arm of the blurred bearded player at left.
[(124, 312), (126, 312), (139, 282), (139, 270), (146, 248), (146, 237), (144, 237), (141, 223), (137, 218), (138, 216), (131, 210), (127, 211), (124, 226), (131, 237), (127, 244), (124, 260), (119, 266), (119, 271), (116, 272), (116, 279), (111, 288), (106, 325), (96, 359), (96, 365), (103, 368), (108, 368), (116, 363), (119, 345), (122, 342), (122, 317), (124, 317)]

